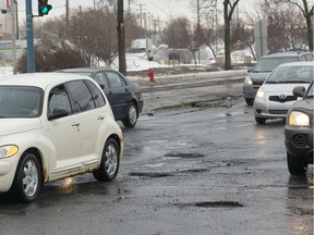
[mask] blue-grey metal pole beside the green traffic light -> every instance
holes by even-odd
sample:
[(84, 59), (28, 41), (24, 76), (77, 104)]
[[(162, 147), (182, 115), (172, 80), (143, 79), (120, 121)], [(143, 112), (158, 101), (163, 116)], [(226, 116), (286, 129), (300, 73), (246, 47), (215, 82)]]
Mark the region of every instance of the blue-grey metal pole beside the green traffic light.
[(32, 0), (25, 0), (25, 3), (26, 3), (27, 72), (34, 73), (35, 52), (34, 52)]

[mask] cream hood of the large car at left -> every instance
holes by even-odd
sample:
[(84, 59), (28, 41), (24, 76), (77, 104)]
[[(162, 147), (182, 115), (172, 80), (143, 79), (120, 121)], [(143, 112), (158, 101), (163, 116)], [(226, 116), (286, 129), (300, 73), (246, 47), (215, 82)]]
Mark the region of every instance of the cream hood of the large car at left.
[(12, 135), (41, 128), (41, 122), (35, 119), (0, 119), (0, 136)]

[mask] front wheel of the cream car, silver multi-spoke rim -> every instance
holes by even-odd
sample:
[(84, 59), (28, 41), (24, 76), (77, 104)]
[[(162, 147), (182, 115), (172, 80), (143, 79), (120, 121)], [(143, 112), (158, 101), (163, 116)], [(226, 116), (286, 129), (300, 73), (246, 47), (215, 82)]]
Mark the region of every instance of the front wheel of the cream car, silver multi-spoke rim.
[(32, 202), (41, 188), (41, 170), (33, 153), (25, 153), (16, 169), (11, 193), (24, 202)]

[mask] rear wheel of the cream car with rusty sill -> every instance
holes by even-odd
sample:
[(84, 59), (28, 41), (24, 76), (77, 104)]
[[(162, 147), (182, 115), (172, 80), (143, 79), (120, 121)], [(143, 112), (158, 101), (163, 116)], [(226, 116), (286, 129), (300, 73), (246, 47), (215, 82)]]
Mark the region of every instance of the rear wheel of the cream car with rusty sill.
[(111, 182), (118, 174), (120, 163), (120, 150), (114, 139), (107, 140), (99, 169), (93, 172), (97, 181)]

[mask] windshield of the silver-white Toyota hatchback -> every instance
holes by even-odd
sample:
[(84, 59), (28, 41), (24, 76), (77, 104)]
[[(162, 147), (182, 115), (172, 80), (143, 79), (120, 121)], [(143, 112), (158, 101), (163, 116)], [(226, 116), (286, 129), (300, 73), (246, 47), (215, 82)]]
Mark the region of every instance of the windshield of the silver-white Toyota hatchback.
[(279, 66), (265, 82), (266, 84), (311, 83), (313, 81), (313, 66)]

